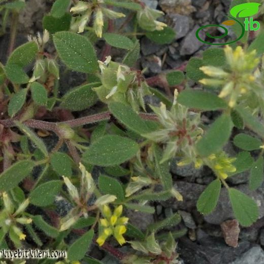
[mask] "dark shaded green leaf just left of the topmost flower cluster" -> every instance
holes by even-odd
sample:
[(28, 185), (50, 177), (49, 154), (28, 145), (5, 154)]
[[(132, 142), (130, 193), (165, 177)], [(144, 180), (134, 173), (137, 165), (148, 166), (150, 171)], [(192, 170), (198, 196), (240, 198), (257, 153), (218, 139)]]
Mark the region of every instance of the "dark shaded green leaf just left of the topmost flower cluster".
[(71, 26), (72, 16), (69, 13), (65, 13), (61, 17), (44, 16), (43, 28), (47, 29), (50, 34), (54, 34), (60, 31), (67, 31)]

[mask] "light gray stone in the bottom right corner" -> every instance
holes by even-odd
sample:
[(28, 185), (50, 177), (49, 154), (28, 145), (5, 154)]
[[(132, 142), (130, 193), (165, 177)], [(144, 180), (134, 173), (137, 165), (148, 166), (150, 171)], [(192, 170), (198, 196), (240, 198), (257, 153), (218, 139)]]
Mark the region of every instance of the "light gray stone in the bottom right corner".
[(254, 246), (230, 264), (262, 264), (264, 251), (260, 246)]

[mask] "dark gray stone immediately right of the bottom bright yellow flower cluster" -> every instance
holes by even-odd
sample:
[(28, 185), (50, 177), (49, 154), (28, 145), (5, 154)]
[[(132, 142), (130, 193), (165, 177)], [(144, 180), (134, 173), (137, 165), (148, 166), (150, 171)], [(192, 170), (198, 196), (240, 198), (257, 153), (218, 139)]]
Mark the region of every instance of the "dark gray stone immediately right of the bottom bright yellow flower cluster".
[(129, 218), (129, 223), (137, 226), (141, 230), (146, 230), (154, 222), (152, 214), (127, 209), (124, 215)]

